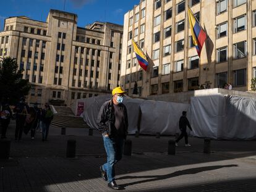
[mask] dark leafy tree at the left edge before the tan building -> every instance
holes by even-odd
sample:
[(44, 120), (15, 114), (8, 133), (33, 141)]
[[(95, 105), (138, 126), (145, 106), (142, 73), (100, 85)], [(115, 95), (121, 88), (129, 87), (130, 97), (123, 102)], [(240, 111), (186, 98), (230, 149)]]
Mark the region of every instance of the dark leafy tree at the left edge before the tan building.
[(0, 101), (16, 104), (21, 97), (28, 95), (30, 84), (22, 79), (15, 59), (4, 57), (0, 62)]

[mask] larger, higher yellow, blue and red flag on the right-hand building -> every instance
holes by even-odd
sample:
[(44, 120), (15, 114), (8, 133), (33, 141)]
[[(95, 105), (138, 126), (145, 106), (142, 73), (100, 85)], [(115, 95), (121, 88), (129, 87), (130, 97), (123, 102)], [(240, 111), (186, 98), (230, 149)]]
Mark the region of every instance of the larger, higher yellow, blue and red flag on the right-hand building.
[(192, 11), (189, 9), (189, 7), (188, 7), (188, 12), (189, 12), (189, 25), (190, 25), (193, 43), (195, 44), (195, 48), (197, 49), (197, 54), (200, 57), (200, 54), (203, 48), (203, 43), (205, 43), (205, 40), (207, 39), (207, 35), (205, 31), (203, 31), (198, 21), (195, 20), (195, 16), (194, 14), (192, 14)]

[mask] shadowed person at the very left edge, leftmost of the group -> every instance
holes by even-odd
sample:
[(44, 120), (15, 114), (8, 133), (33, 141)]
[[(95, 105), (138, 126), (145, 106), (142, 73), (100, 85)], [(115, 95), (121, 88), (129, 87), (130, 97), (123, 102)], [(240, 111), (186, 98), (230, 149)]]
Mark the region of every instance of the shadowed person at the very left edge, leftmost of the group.
[(9, 126), (12, 116), (12, 111), (9, 104), (3, 104), (0, 110), (0, 121), (1, 121), (1, 139), (6, 139), (6, 131)]

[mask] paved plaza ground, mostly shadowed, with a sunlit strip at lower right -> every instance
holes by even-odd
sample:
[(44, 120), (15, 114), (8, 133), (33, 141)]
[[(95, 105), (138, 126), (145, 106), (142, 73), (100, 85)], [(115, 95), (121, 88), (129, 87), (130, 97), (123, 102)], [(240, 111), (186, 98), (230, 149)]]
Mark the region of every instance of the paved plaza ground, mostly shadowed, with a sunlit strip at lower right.
[[(50, 128), (49, 141), (23, 136), (11, 138), (11, 158), (0, 161), (0, 191), (113, 191), (100, 177), (105, 162), (100, 134), (88, 130)], [(28, 133), (30, 134), (30, 133)], [(66, 143), (77, 141), (77, 157), (67, 159)], [(172, 137), (140, 136), (132, 140), (132, 156), (116, 165), (116, 178), (125, 191), (256, 191), (256, 141), (212, 141), (211, 154), (203, 154), (203, 140), (189, 138), (192, 147), (179, 142), (176, 155), (167, 154)]]

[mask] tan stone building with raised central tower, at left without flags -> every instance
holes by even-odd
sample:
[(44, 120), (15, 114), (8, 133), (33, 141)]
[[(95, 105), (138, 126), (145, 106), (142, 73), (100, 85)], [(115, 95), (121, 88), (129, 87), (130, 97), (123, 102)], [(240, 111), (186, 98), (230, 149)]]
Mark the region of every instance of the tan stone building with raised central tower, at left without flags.
[(77, 27), (77, 15), (50, 10), (46, 22), (9, 17), (0, 33), (0, 57), (17, 58), (32, 83), (28, 102), (70, 106), (72, 99), (109, 93), (119, 85), (122, 25)]

